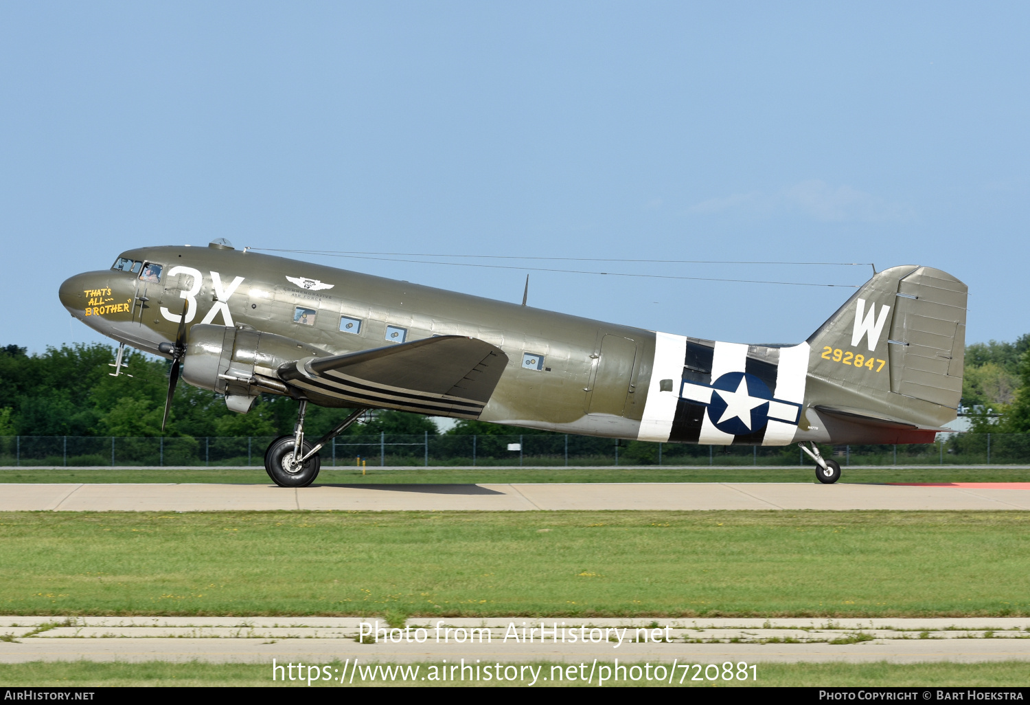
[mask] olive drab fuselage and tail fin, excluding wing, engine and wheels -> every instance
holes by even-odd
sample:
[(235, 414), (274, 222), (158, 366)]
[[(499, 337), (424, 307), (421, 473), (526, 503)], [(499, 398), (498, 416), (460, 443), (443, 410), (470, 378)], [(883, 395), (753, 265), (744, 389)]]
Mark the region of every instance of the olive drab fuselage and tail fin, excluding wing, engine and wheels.
[[(215, 245), (131, 249), (115, 268), (72, 276), (60, 295), (72, 315), (97, 331), (165, 357), (159, 346), (165, 343), (167, 350), (176, 339), (182, 316), (187, 340), (195, 326), (202, 327), (193, 343), (199, 350), (204, 340), (220, 335), (211, 327), (224, 327), (227, 341), (260, 334), (269, 360), (280, 366), (301, 361), (298, 369), (305, 360), (436, 336), (481, 340), (503, 351), (501, 358), (507, 356), (492, 393), (475, 407), (474, 416), (484, 422), (713, 444), (913, 442), (905, 440), (915, 438), (912, 433), (925, 436), (954, 418), (957, 399), (950, 403), (949, 390), (955, 356), (943, 356), (943, 381), (924, 375), (930, 382), (921, 383), (928, 383), (929, 392), (895, 391), (903, 380), (892, 387), (892, 365), (901, 363), (888, 349), (888, 339), (900, 325), (896, 297), (905, 295), (891, 288), (899, 291), (919, 277), (930, 281), (927, 272), (937, 271), (896, 267), (882, 272), (809, 341), (791, 346), (687, 338)], [(941, 280), (925, 286), (939, 289)], [(954, 277), (946, 284), (949, 292), (962, 290), (961, 297), (953, 296), (954, 339), (964, 330), (964, 284)], [(854, 310), (857, 306), (862, 309)], [(934, 344), (954, 347), (947, 341)], [(913, 350), (909, 362), (927, 367), (914, 362)], [(861, 365), (856, 366), (856, 356)], [(254, 360), (252, 369), (269, 379), (277, 374), (271, 363), (265, 370)], [(186, 381), (190, 367), (186, 355)], [(937, 367), (926, 374), (938, 374)], [(310, 365), (306, 369), (310, 372)], [(219, 374), (228, 380), (221, 384), (233, 383), (233, 374)], [(300, 379), (300, 373), (294, 376)], [(960, 389), (961, 370), (957, 376)], [(280, 374), (275, 383), (289, 388), (290, 380)], [(930, 389), (937, 387), (943, 391)], [(346, 405), (328, 397), (312, 399)], [(436, 415), (470, 417), (468, 411)]]

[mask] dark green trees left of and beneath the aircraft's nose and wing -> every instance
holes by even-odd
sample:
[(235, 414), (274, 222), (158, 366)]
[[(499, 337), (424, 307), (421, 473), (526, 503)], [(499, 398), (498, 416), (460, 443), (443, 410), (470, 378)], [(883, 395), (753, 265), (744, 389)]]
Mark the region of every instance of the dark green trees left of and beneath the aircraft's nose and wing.
[[(262, 395), (249, 413), (226, 408), (222, 398), (180, 381), (165, 433), (161, 431), (171, 363), (126, 348), (117, 376), (114, 350), (103, 343), (0, 348), (0, 436), (278, 436), (291, 433), (297, 402)], [(305, 432), (316, 437), (343, 419), (346, 409), (308, 407)], [(439, 434), (425, 416), (376, 411), (350, 435)], [(480, 422), (458, 422), (451, 434), (544, 433)]]

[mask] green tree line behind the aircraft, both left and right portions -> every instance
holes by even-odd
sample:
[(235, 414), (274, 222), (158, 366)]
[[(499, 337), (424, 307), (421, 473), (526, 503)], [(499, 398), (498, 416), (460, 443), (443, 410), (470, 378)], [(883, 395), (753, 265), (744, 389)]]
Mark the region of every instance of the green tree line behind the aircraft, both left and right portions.
[[(170, 363), (127, 348), (128, 367), (111, 376), (113, 349), (103, 343), (48, 347), (28, 355), (25, 347), (0, 348), (0, 435), (159, 436)], [(982, 408), (974, 430), (1030, 432), (1030, 334), (1015, 342), (972, 343), (966, 347), (962, 403)], [(346, 414), (310, 406), (306, 431), (320, 435)], [(999, 415), (992, 415), (999, 414)], [(297, 402), (262, 395), (249, 413), (226, 408), (222, 399), (180, 382), (166, 436), (277, 436), (289, 433)], [(351, 435), (439, 433), (425, 416), (379, 411)], [(460, 421), (448, 434), (531, 434), (530, 429)]]

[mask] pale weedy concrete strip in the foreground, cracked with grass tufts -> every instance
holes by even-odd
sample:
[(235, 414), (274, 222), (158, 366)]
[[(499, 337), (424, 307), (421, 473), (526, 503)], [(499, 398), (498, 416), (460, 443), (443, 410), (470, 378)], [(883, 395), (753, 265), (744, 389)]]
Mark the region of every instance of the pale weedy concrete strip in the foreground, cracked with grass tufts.
[[(360, 643), (366, 634), (380, 640)], [(412, 617), (389, 633), (375, 617), (0, 616), (0, 663), (28, 661), (525, 663), (592, 660), (684, 664), (1030, 661), (1030, 618)], [(657, 633), (653, 628), (658, 625)], [(564, 632), (553, 632), (554, 627)], [(667, 630), (665, 629), (667, 627)], [(422, 628), (419, 633), (418, 628)], [(448, 631), (448, 628), (449, 629)], [(475, 641), (470, 630), (479, 631)], [(535, 633), (522, 629), (537, 628)], [(638, 631), (640, 630), (640, 631)], [(575, 631), (584, 640), (571, 640)], [(644, 638), (642, 638), (644, 634)], [(517, 638), (513, 638), (513, 635)], [(556, 638), (560, 635), (560, 638)], [(526, 637), (531, 638), (526, 638)], [(507, 638), (506, 638), (507, 637)], [(654, 640), (655, 637), (658, 640)], [(392, 638), (392, 641), (389, 639)], [(421, 638), (421, 641), (418, 639)], [(732, 640), (732, 641), (731, 641)], [(835, 643), (834, 643), (835, 642)]]

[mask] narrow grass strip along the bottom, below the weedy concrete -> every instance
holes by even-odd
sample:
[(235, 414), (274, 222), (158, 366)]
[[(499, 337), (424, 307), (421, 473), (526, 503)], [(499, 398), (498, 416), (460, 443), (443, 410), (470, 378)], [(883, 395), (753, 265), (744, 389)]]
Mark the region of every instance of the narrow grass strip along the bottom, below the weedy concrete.
[[(329, 666), (330, 673), (334, 669), (342, 670), (343, 665), (339, 662), (329, 662), (318, 664)], [(612, 664), (598, 664), (612, 666)], [(624, 664), (620, 663), (620, 666)], [(631, 665), (631, 664), (630, 664)], [(641, 663), (641, 666), (644, 664)], [(671, 664), (664, 664), (670, 666)], [(412, 665), (415, 666), (415, 665)], [(418, 679), (413, 681), (402, 681), (397, 678), (393, 681), (383, 681), (380, 678), (363, 681), (355, 678), (352, 683), (339, 683), (331, 680), (312, 680), (310, 686), (322, 687), (358, 687), (376, 685), (524, 685), (524, 681), (503, 681), (480, 680), (480, 681), (434, 681), (421, 680), (428, 672), (428, 667), (439, 666), (439, 664), (423, 663), (417, 664)], [(541, 676), (547, 676), (551, 667), (566, 668), (566, 664), (552, 664), (539, 662), (533, 665), (534, 669), (542, 667), (539, 671)], [(653, 667), (652, 667), (653, 668)], [(677, 669), (677, 675), (672, 683), (676, 687), (711, 687), (717, 686), (816, 686), (816, 687), (843, 687), (843, 686), (912, 686), (912, 687), (1012, 687), (1025, 686), (1028, 665), (1024, 662), (999, 662), (999, 663), (977, 663), (977, 664), (957, 664), (957, 663), (923, 663), (923, 664), (888, 664), (885, 662), (867, 664), (763, 664), (758, 663), (757, 680), (730, 682), (719, 680), (693, 681), (693, 670), (689, 672), (684, 682), (681, 684), (680, 677), (682, 671)], [(587, 669), (589, 670), (589, 668)], [(25, 664), (3, 664), (0, 665), (0, 687), (28, 687), (28, 686), (141, 686), (141, 685), (163, 685), (163, 686), (261, 686), (270, 685), (283, 687), (309, 687), (306, 680), (272, 680), (271, 664), (206, 664), (206, 663), (185, 663), (173, 664), (160, 661), (149, 661), (143, 663), (124, 662), (32, 662)], [(555, 671), (556, 672), (556, 671)], [(381, 672), (380, 672), (381, 673)], [(586, 686), (588, 683), (582, 680), (547, 681), (538, 680), (537, 685), (564, 685), (564, 686)], [(608, 682), (606, 687), (622, 685), (651, 685), (658, 687), (668, 687), (667, 682), (647, 680), (642, 677), (637, 681)], [(589, 685), (597, 687), (596, 679)]]

